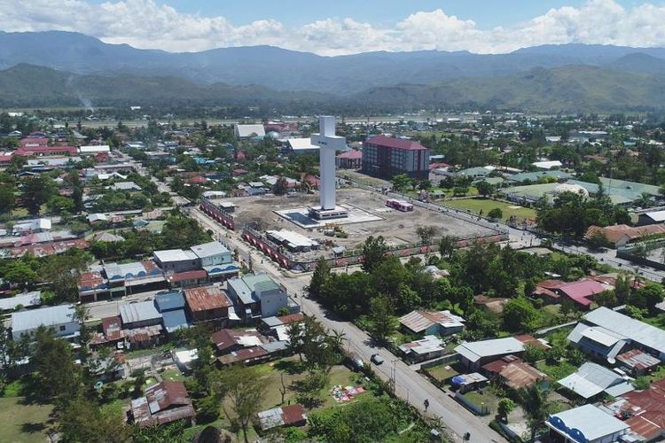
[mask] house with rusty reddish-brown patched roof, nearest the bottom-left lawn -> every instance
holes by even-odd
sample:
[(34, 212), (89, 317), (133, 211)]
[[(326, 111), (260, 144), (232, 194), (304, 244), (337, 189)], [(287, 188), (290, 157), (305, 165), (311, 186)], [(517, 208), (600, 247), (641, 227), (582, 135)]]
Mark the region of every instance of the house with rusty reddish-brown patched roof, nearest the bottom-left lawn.
[(183, 382), (163, 381), (145, 390), (145, 397), (131, 400), (130, 419), (139, 428), (177, 420), (191, 421), (196, 412)]

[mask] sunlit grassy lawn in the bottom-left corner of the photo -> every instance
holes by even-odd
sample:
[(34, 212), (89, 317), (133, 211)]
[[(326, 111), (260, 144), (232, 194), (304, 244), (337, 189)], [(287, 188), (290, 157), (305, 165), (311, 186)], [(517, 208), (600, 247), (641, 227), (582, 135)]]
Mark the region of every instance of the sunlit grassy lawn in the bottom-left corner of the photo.
[(52, 426), (51, 405), (24, 405), (21, 397), (0, 398), (0, 441), (34, 443), (48, 441)]

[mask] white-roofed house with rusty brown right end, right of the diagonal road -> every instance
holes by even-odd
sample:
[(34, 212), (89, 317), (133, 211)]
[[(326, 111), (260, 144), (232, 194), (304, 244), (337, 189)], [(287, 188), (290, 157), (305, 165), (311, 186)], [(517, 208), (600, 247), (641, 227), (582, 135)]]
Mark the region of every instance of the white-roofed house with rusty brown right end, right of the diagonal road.
[(542, 340), (523, 335), (462, 343), (455, 348), (455, 352), (459, 354), (460, 363), (471, 369), (480, 369), (489, 361), (506, 355), (521, 357), (526, 345), (549, 347)]

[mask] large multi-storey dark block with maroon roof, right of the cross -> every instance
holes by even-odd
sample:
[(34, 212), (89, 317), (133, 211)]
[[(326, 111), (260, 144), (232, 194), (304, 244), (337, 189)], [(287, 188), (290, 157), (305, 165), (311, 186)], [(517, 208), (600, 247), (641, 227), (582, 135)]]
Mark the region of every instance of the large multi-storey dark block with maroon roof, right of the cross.
[(426, 180), (429, 154), (429, 149), (413, 140), (374, 136), (363, 144), (363, 172), (384, 179), (406, 174)]

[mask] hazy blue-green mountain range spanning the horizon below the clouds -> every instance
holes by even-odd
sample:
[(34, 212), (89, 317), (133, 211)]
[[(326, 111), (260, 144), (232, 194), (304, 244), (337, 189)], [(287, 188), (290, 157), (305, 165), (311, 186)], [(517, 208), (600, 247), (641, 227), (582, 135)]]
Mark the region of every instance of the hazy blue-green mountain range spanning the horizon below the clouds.
[(665, 103), (665, 49), (606, 45), (322, 57), (270, 46), (171, 53), (61, 31), (0, 32), (0, 69), (5, 107), (90, 100), (587, 112), (661, 109)]

